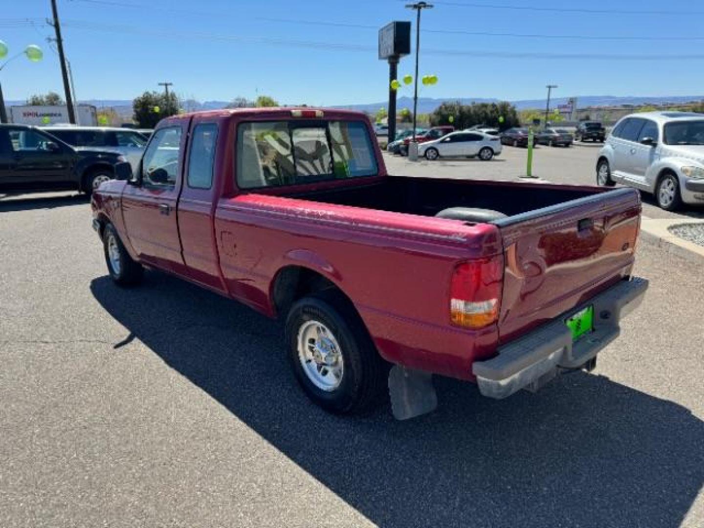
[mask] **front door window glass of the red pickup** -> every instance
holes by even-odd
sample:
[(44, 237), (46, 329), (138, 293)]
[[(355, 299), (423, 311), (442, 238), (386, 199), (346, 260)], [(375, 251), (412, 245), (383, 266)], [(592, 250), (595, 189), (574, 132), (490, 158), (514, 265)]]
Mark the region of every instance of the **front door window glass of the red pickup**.
[(144, 187), (173, 189), (178, 177), (181, 146), (181, 127), (160, 128), (142, 158), (142, 184)]

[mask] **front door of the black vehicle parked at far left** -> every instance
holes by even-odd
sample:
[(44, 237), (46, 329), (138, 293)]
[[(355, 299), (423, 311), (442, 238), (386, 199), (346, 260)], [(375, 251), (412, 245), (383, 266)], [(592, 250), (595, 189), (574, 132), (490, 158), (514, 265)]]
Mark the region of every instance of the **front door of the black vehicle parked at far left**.
[(9, 180), (13, 185), (51, 187), (73, 180), (73, 151), (38, 130), (12, 127), (8, 130), (14, 161)]

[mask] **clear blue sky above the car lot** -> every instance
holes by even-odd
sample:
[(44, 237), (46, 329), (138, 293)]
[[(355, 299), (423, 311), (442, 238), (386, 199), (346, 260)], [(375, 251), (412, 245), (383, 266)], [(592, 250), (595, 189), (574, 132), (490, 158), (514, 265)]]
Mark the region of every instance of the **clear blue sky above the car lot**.
[[(26, 99), (49, 90), (63, 93), (56, 54), (45, 42), (53, 36), (43, 22), (51, 16), (49, 0), (2, 3), (0, 39), (11, 53), (27, 44), (39, 44), (45, 51), (42, 63), (18, 59), (0, 72), (5, 98)], [(377, 59), (376, 28), (390, 20), (414, 18), (404, 4), (58, 0), (78, 99), (132, 99), (145, 89), (161, 89), (157, 83), (168, 80), (181, 96), (201, 101), (268, 94), (282, 103), (321, 105), (386, 99), (388, 66)], [(435, 8), (423, 13), (422, 29), (428, 31), (421, 36), (420, 73), (434, 73), (439, 82), (421, 95), (539, 99), (547, 82), (560, 86), (555, 96), (704, 94), (704, 6), (697, 5), (689, 0), (437, 1)], [(548, 55), (503, 56), (517, 53)], [(649, 58), (594, 57), (615, 54)], [(695, 57), (675, 58), (682, 55)], [(413, 57), (404, 58), (399, 77), (412, 70)], [(409, 89), (401, 93), (412, 94)]]

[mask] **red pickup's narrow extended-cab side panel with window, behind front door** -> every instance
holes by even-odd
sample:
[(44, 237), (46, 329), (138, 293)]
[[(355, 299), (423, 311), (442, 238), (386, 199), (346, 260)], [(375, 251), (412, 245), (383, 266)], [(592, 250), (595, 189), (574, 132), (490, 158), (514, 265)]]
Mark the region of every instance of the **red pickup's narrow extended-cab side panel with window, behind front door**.
[(219, 195), (214, 175), (224, 170), (222, 163), (216, 161), (215, 153), (227, 149), (226, 145), (222, 149), (215, 148), (218, 132), (218, 122), (213, 118), (196, 117), (191, 122), (184, 184), (178, 202), (178, 224), (189, 277), (225, 292), (213, 230)]

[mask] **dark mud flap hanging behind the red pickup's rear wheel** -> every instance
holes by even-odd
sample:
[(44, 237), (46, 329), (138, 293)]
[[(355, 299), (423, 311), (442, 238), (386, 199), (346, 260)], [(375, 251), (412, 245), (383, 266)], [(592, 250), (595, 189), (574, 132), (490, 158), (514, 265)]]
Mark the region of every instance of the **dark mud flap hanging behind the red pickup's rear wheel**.
[(433, 375), (394, 365), (389, 372), (391, 412), (396, 420), (432, 413), (438, 406)]

